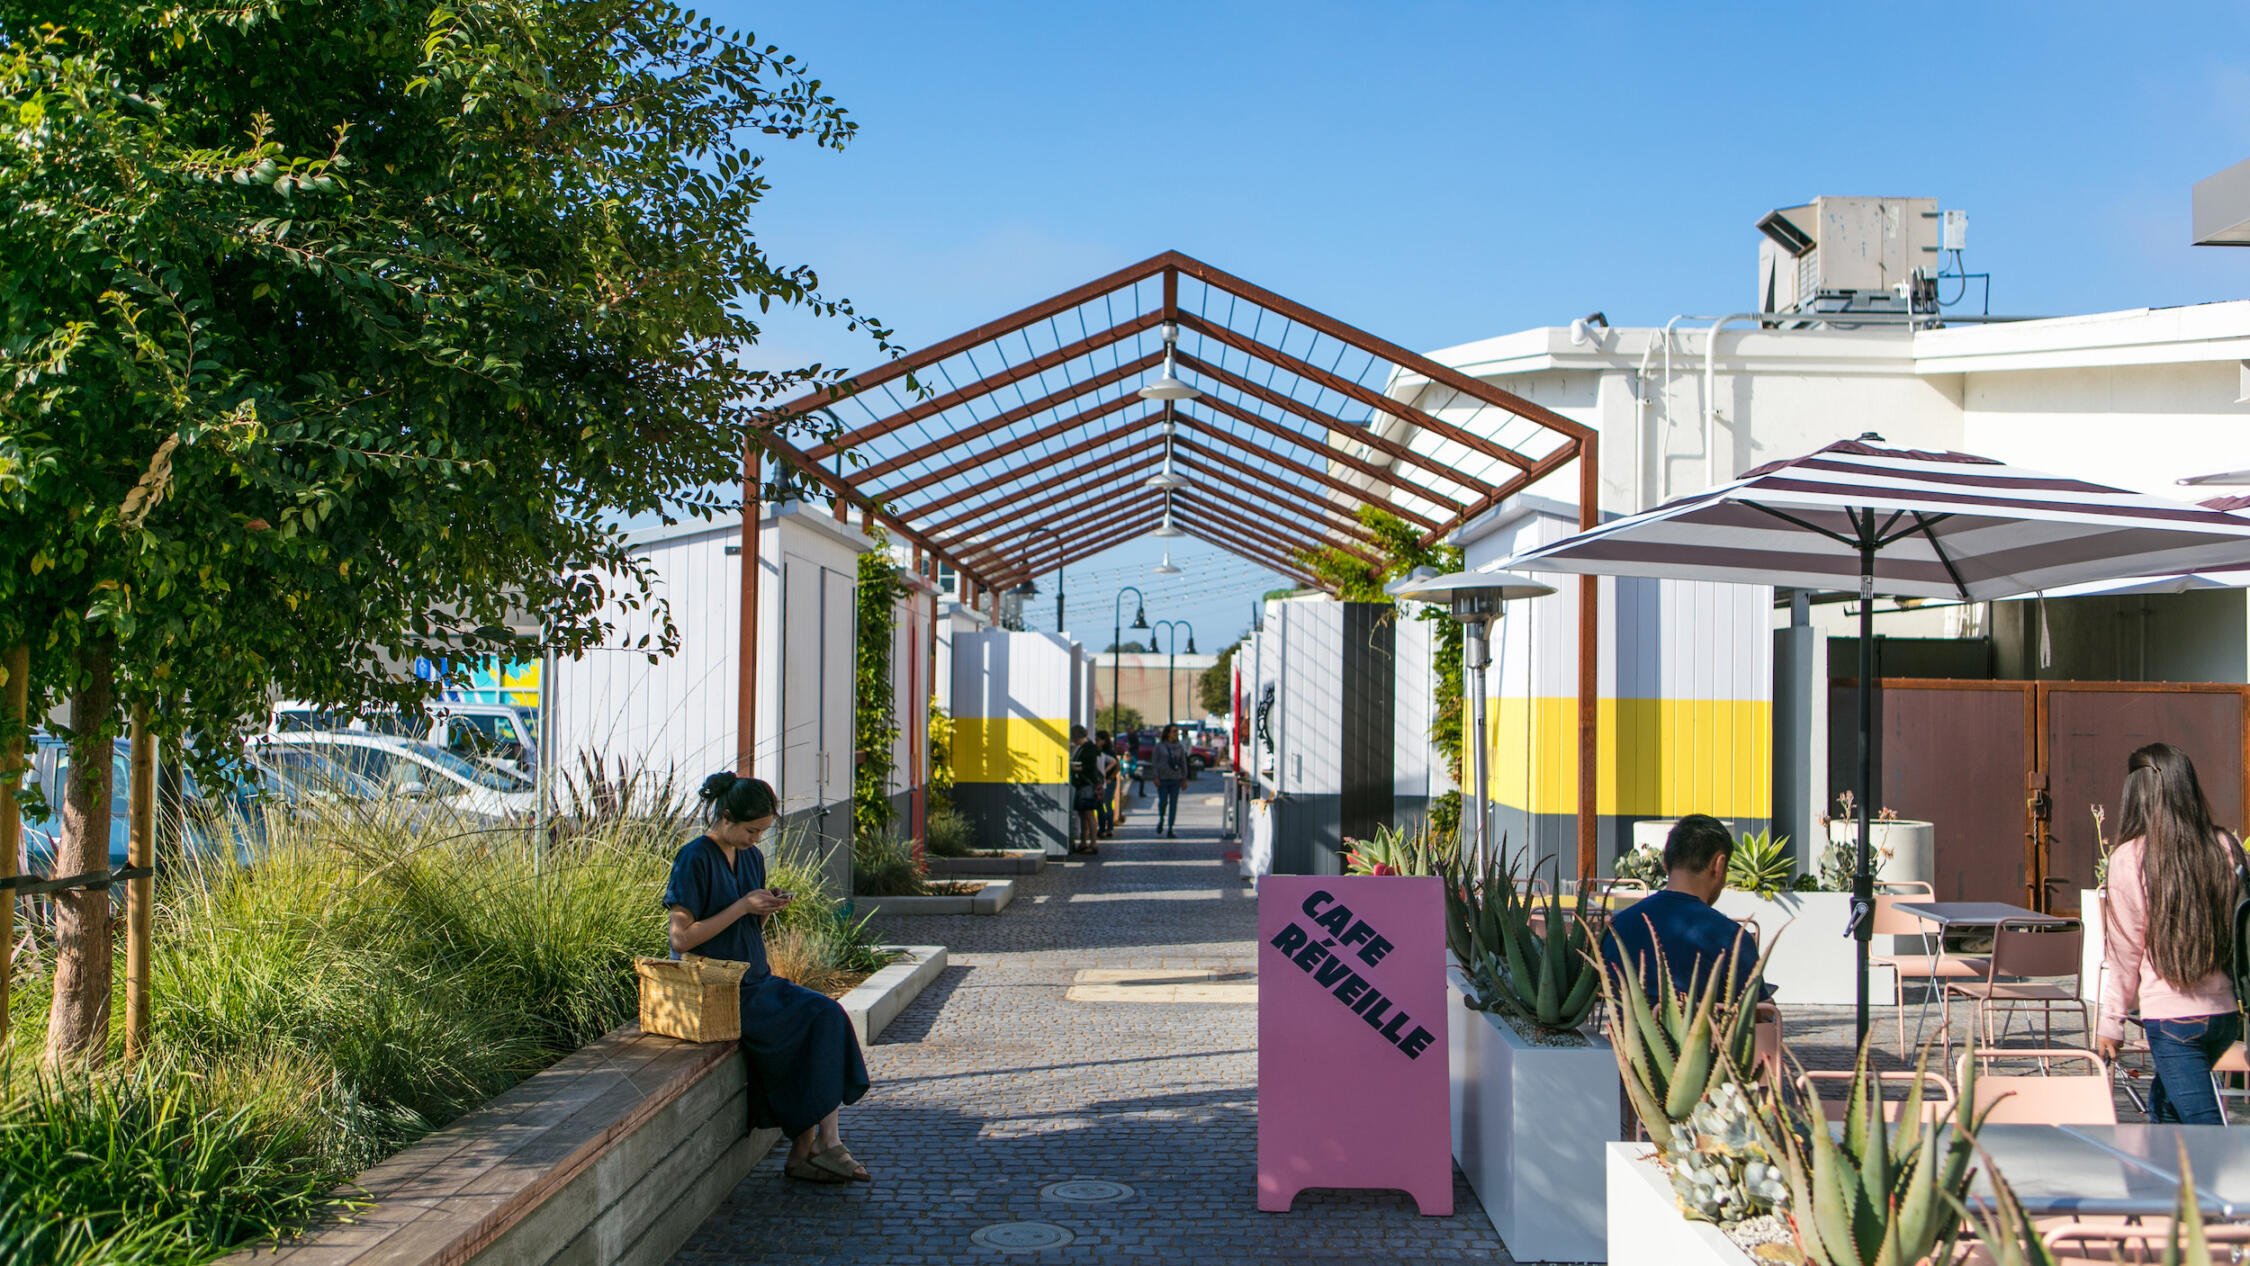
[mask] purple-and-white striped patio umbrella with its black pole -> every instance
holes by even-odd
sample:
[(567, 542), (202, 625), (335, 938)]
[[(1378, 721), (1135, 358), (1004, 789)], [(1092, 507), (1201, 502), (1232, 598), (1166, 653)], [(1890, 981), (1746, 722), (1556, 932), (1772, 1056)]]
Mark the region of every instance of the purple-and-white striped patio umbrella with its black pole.
[(1874, 935), (1874, 594), (2020, 598), (2043, 589), (2250, 567), (2250, 517), (2041, 474), (1960, 452), (1892, 447), (1865, 434), (1760, 465), (1681, 497), (1528, 549), (1510, 571), (1721, 580), (1858, 594), (1858, 1034), (1868, 1034)]

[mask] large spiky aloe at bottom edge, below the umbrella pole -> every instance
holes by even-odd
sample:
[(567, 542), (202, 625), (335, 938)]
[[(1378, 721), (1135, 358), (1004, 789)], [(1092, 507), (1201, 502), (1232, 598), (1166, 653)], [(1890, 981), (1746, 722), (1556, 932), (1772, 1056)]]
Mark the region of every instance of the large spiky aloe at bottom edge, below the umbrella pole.
[[(1865, 1043), (1845, 1100), (1843, 1138), (1834, 1138), (1818, 1111), (1802, 1129), (1780, 1131), (1778, 1151), (1807, 1262), (1915, 1266), (1951, 1257), (1976, 1129), (1984, 1120), (1976, 1111), (1976, 1061), (1964, 1064), (1951, 1131), (1922, 1118), (1926, 1052), (1897, 1122), (1883, 1120), (1883, 1086), (1868, 1068)], [(1809, 1086), (1807, 1102), (1818, 1104)]]

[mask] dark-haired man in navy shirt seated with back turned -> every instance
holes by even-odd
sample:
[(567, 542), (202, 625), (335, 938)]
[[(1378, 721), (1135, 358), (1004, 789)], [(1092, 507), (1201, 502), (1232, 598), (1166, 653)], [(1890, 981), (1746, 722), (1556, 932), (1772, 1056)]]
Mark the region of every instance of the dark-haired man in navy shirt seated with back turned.
[[(1735, 951), (1732, 978), (1739, 985), (1757, 965), (1757, 940), (1748, 929), (1712, 908), (1726, 890), (1726, 861), (1735, 854), (1735, 837), (1726, 823), (1708, 814), (1681, 819), (1665, 837), (1665, 888), (1649, 893), (1611, 915), (1602, 938), (1602, 962), (1611, 971), (1634, 965), (1640, 992), (1656, 1005), (1658, 949), (1672, 969), (1674, 989), (1692, 989), (1728, 949)], [(1762, 996), (1771, 996), (1766, 985)]]

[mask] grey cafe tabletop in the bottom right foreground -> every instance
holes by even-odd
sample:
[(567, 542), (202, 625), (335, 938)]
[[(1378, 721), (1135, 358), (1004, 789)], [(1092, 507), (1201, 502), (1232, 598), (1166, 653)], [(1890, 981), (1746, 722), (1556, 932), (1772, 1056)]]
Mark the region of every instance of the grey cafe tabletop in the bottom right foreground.
[(2169, 1217), (2180, 1201), (2180, 1145), (2196, 1203), (2212, 1221), (2250, 1219), (2250, 1136), (2218, 1124), (1987, 1124), (1971, 1199), (1991, 1169), (2034, 1217)]

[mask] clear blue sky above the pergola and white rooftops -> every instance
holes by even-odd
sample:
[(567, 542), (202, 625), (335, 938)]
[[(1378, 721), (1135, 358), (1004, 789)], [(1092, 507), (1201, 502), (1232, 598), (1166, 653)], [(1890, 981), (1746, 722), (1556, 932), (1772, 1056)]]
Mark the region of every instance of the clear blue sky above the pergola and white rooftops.
[[(758, 234), (907, 346), (1168, 247), (1415, 349), (1660, 324), (1753, 304), (1753, 223), (1816, 193), (1966, 209), (2000, 313), (2250, 295), (2250, 250), (2187, 245), (2189, 187), (2250, 157), (2241, 2), (704, 11), (860, 119), (767, 151)], [(756, 360), (871, 351), (781, 317)], [(1208, 650), (1276, 585), (1190, 542), (1159, 587), (1159, 544), (1073, 569), (1080, 636), (1141, 582)]]

